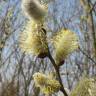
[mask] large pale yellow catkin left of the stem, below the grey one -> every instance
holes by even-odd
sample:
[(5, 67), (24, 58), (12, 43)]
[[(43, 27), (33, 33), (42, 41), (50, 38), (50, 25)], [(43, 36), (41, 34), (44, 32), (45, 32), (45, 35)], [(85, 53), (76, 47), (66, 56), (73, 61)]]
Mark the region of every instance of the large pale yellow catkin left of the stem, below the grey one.
[(46, 55), (48, 46), (46, 34), (41, 30), (41, 26), (34, 21), (29, 21), (26, 29), (20, 34), (19, 46), (26, 53), (36, 56)]

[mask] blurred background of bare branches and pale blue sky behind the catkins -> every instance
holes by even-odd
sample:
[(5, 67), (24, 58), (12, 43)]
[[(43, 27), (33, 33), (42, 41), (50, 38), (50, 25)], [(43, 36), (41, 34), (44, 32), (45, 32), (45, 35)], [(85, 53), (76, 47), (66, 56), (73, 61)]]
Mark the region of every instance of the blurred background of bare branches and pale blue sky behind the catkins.
[[(39, 1), (48, 6), (45, 24), (49, 37), (61, 28), (68, 28), (79, 37), (81, 50), (69, 55), (60, 69), (70, 93), (83, 75), (96, 75), (96, 0)], [(32, 75), (53, 70), (48, 58), (38, 59), (19, 48), (19, 35), (26, 21), (21, 0), (0, 0), (0, 96), (43, 96), (34, 86)]]

